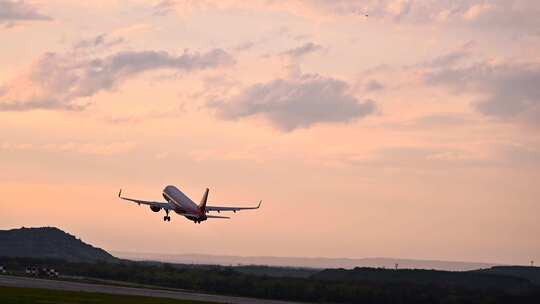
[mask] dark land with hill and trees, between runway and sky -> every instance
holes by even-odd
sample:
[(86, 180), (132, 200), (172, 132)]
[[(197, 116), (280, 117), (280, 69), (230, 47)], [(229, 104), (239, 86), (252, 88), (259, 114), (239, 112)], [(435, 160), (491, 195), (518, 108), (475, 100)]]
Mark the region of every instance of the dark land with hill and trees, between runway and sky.
[(0, 265), (15, 274), (28, 266), (52, 267), (75, 277), (303, 302), (540, 303), (540, 268), (535, 267), (450, 272), (133, 262), (56, 228), (1, 231)]

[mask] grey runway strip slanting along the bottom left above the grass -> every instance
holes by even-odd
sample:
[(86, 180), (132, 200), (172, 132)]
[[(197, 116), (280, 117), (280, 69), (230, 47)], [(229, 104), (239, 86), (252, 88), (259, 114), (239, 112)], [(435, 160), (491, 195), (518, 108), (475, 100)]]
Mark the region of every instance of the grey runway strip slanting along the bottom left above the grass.
[(263, 300), (254, 298), (231, 297), (221, 295), (211, 295), (203, 293), (192, 293), (185, 291), (159, 290), (150, 288), (122, 287), (103, 284), (88, 284), (69, 281), (56, 281), (46, 279), (35, 279), (27, 277), (16, 277), (0, 275), (0, 286), (41, 288), (66, 291), (96, 292), (115, 295), (146, 296), (154, 298), (170, 298), (178, 300), (206, 301), (229, 304), (299, 304), (297, 302)]

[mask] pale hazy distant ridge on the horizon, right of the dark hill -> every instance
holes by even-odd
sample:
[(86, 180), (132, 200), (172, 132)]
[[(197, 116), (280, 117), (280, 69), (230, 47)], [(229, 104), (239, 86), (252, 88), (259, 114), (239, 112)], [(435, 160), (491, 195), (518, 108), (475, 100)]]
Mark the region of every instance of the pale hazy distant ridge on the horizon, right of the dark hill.
[(114, 252), (116, 256), (131, 260), (153, 260), (181, 264), (213, 265), (265, 265), (305, 268), (345, 268), (356, 267), (391, 268), (396, 264), (400, 269), (435, 269), (448, 271), (469, 271), (498, 266), (491, 263), (413, 260), (394, 258), (303, 258), (303, 257), (243, 257), (205, 254), (156, 254)]

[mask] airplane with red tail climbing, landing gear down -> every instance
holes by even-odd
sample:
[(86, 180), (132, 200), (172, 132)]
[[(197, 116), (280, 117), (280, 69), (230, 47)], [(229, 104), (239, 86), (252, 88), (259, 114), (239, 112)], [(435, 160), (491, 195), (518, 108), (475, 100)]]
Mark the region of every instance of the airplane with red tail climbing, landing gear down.
[(159, 212), (163, 209), (166, 215), (163, 217), (163, 221), (170, 222), (171, 217), (169, 212), (174, 211), (175, 213), (186, 217), (188, 220), (193, 221), (194, 223), (200, 224), (203, 221), (206, 221), (209, 218), (219, 218), (219, 219), (229, 219), (227, 216), (219, 215), (210, 215), (207, 214), (210, 211), (216, 211), (221, 213), (221, 211), (236, 211), (240, 210), (252, 210), (259, 209), (262, 204), (262, 200), (259, 202), (257, 207), (220, 207), (220, 206), (207, 206), (206, 201), (208, 200), (209, 189), (206, 188), (204, 195), (201, 199), (201, 202), (197, 205), (193, 202), (187, 195), (185, 195), (180, 189), (175, 186), (168, 185), (163, 189), (162, 195), (165, 198), (166, 202), (153, 202), (153, 201), (144, 201), (133, 198), (128, 198), (122, 196), (122, 189), (118, 192), (118, 197), (136, 203), (138, 205), (148, 205), (150, 210), (153, 212)]

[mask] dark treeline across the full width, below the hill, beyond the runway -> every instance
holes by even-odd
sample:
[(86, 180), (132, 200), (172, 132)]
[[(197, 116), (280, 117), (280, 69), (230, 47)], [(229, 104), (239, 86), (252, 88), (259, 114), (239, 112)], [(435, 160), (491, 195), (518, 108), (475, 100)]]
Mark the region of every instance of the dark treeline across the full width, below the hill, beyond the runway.
[[(444, 273), (385, 269), (323, 271), (309, 278), (242, 273), (234, 267), (123, 261), (70, 263), (62, 260), (0, 258), (8, 270), (51, 267), (61, 274), (126, 281), (208, 293), (323, 303), (540, 303), (540, 289), (526, 280), (491, 275), (459, 284)], [(402, 273), (402, 271), (404, 271)], [(351, 274), (352, 273), (352, 274)], [(443, 273), (441, 275), (441, 273)], [(450, 273), (452, 275), (452, 273)], [(468, 273), (462, 273), (467, 275)], [(396, 275), (406, 279), (395, 279)], [(434, 279), (429, 279), (432, 276)], [(487, 275), (486, 276), (490, 276)], [(384, 279), (384, 278), (387, 279)], [(437, 277), (437, 278), (435, 278)], [(391, 279), (394, 278), (394, 279)], [(499, 279), (501, 279), (499, 281)], [(502, 284), (502, 285), (501, 285)], [(508, 288), (505, 288), (508, 287)], [(519, 287), (519, 288), (516, 288)]]

